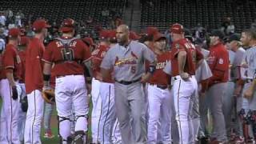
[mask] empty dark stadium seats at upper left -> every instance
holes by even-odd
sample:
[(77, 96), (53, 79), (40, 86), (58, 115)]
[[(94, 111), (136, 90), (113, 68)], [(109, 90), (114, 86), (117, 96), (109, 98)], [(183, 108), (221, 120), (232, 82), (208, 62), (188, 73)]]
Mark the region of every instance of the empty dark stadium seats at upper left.
[(0, 10), (22, 10), (28, 17), (46, 18), (50, 22), (61, 22), (63, 18), (74, 18), (76, 21), (86, 20), (89, 16), (104, 24), (107, 18), (102, 10), (115, 9), (122, 13), (126, 0), (1, 0)]

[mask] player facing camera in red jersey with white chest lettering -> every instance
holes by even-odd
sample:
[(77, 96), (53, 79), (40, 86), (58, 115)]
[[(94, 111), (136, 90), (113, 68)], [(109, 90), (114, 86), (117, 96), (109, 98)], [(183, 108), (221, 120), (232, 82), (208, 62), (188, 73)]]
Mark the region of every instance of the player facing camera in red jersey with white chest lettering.
[[(162, 71), (170, 59), (170, 54), (166, 52), (166, 37), (163, 34), (154, 35), (154, 54), (158, 62), (147, 89), (150, 116), (147, 138), (148, 143), (170, 143), (170, 77)], [(161, 123), (158, 127), (160, 119)], [(157, 138), (158, 130), (162, 133), (160, 134), (162, 138)]]

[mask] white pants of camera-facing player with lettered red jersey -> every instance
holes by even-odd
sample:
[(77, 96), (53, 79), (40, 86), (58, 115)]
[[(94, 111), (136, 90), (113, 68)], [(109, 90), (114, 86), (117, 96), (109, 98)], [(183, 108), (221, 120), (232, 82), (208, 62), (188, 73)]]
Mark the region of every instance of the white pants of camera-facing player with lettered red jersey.
[[(162, 90), (157, 85), (148, 86), (149, 99), (149, 123), (147, 129), (148, 143), (171, 142), (170, 118), (171, 118), (171, 100), (170, 90)], [(158, 122), (160, 126), (158, 126)], [(160, 130), (161, 134), (158, 134)], [(162, 138), (158, 138), (158, 135)]]

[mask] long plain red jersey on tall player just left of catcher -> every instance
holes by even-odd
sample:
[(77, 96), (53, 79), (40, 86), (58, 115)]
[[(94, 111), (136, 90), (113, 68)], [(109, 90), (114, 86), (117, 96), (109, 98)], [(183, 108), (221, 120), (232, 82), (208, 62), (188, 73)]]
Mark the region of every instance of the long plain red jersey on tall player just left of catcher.
[(32, 38), (26, 49), (25, 85), (26, 94), (34, 90), (42, 90), (42, 54), (45, 46), (38, 38)]

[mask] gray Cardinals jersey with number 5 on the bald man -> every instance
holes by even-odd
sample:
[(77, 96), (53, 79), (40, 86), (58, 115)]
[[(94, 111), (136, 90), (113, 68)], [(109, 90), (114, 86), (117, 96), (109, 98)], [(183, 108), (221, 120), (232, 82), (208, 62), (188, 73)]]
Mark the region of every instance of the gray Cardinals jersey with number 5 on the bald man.
[(101, 67), (110, 70), (114, 67), (116, 81), (134, 81), (145, 72), (145, 60), (155, 61), (153, 51), (140, 42), (131, 41), (126, 47), (116, 44), (107, 51)]

